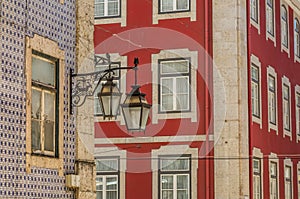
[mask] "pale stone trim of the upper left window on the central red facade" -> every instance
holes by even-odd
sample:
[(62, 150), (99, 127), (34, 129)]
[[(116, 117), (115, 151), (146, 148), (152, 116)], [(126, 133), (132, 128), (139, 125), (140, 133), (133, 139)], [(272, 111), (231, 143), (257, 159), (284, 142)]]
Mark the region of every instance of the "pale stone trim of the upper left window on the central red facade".
[(127, 0), (120, 0), (120, 17), (107, 17), (102, 19), (94, 19), (95, 25), (100, 24), (115, 24), (120, 23), (121, 27), (124, 27), (127, 25)]

